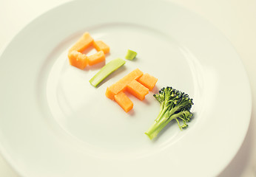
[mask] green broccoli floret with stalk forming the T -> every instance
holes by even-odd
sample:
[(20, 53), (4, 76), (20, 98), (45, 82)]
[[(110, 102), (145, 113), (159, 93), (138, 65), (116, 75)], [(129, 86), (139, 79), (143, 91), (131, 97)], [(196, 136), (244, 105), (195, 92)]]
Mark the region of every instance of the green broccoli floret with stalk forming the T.
[(187, 122), (190, 121), (193, 115), (190, 112), (193, 102), (188, 94), (172, 87), (166, 87), (161, 89), (159, 94), (154, 94), (153, 96), (161, 104), (161, 108), (155, 122), (146, 131), (149, 139), (155, 138), (172, 119), (177, 121), (181, 130), (188, 126)]

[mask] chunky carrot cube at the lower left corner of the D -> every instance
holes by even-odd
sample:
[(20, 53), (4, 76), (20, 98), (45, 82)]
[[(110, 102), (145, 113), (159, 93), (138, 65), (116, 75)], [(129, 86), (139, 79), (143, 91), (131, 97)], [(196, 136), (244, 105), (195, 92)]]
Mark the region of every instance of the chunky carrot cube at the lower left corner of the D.
[(77, 67), (78, 69), (84, 69), (87, 66), (87, 55), (73, 50), (69, 54), (70, 65)]

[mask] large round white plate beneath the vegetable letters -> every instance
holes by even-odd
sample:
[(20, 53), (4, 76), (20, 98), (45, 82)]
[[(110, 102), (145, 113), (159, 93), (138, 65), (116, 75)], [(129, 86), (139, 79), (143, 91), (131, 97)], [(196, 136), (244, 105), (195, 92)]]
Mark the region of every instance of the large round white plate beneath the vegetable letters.
[[(110, 45), (107, 62), (138, 52), (98, 89), (70, 66), (67, 50), (88, 31)], [(155, 141), (154, 91), (126, 114), (107, 86), (133, 69), (194, 99), (194, 119)], [(251, 95), (229, 41), (198, 15), (166, 1), (72, 1), (41, 15), (0, 57), (1, 152), (21, 176), (217, 176), (246, 134)]]

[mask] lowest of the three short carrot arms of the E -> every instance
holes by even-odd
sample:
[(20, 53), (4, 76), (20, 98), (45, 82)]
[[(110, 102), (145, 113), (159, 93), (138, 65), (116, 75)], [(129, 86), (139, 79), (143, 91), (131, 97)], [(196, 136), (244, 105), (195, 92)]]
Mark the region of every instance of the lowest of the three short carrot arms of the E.
[(123, 91), (120, 91), (118, 94), (115, 94), (115, 102), (124, 109), (124, 111), (129, 112), (133, 108), (133, 103), (129, 100), (126, 94)]

